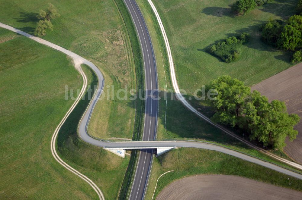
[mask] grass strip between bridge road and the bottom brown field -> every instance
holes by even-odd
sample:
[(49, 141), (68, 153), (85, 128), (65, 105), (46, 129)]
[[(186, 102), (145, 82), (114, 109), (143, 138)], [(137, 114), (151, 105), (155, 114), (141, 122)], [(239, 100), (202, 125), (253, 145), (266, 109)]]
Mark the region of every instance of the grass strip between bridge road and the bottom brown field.
[(242, 176), (265, 183), (302, 191), (302, 181), (243, 161), (230, 155), (210, 150), (180, 148), (154, 158), (146, 199), (151, 199), (158, 177), (163, 175), (156, 187), (154, 198), (169, 183), (194, 174), (227, 174)]

